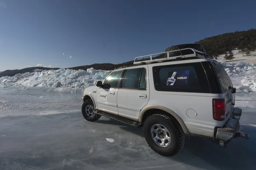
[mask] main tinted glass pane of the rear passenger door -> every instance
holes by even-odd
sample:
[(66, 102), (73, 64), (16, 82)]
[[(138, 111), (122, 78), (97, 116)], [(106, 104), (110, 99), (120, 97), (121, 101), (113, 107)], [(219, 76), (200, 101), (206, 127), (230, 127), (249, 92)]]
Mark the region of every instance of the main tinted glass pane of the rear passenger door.
[(125, 72), (122, 88), (139, 88), (141, 68), (128, 69)]

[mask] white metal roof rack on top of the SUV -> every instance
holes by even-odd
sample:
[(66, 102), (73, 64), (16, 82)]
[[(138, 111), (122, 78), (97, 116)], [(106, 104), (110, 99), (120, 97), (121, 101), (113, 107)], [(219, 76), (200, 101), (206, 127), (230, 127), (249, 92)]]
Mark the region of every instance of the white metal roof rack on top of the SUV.
[[(192, 53), (192, 54), (186, 54), (186, 55), (182, 55), (182, 51), (192, 51), (192, 52), (189, 52), (189, 53)], [(180, 55), (175, 55), (175, 56), (172, 56), (170, 57), (170, 53), (173, 55), (174, 52), (180, 52)], [(187, 53), (187, 52), (186, 52)], [(161, 54), (167, 54), (167, 57), (165, 58), (158, 58), (158, 59), (153, 59), (152, 58), (152, 55), (161, 55)], [(144, 61), (137, 61), (138, 58), (145, 58), (145, 57), (149, 57), (150, 56), (150, 59), (148, 60), (144, 60)], [(168, 51), (168, 52), (160, 52), (160, 53), (155, 53), (155, 54), (150, 54), (150, 55), (144, 55), (144, 56), (140, 56), (140, 57), (136, 57), (134, 59), (134, 64), (144, 64), (144, 63), (155, 63), (155, 62), (164, 62), (164, 61), (170, 61), (170, 60), (181, 60), (181, 59), (188, 59), (188, 58), (209, 58), (209, 55), (207, 55), (207, 53), (205, 52), (201, 52), (201, 51), (198, 51), (196, 49), (192, 49), (192, 48), (185, 48), (185, 49), (177, 49), (177, 50), (173, 50), (173, 51)]]

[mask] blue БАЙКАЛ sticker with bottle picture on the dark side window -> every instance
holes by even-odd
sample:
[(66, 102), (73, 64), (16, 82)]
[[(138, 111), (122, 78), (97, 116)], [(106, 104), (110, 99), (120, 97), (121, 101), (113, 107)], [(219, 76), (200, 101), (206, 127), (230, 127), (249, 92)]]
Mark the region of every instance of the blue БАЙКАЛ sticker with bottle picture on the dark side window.
[(169, 72), (167, 86), (187, 86), (189, 83), (189, 70)]

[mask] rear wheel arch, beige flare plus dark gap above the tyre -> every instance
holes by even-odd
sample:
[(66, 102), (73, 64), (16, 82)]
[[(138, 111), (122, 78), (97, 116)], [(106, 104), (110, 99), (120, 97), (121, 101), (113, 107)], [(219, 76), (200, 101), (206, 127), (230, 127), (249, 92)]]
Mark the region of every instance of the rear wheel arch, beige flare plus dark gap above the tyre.
[(172, 115), (180, 124), (180, 126), (182, 127), (184, 133), (189, 134), (189, 130), (186, 127), (186, 124), (183, 122), (183, 120), (180, 118), (180, 116), (178, 116), (175, 112), (173, 112), (172, 110), (163, 107), (163, 106), (158, 106), (158, 105), (152, 105), (152, 106), (147, 106), (144, 107), (141, 112), (140, 112), (140, 116), (139, 116), (139, 122), (143, 123), (145, 121), (145, 119), (150, 116), (153, 115), (155, 111), (162, 111), (162, 112), (166, 112), (167, 114)]

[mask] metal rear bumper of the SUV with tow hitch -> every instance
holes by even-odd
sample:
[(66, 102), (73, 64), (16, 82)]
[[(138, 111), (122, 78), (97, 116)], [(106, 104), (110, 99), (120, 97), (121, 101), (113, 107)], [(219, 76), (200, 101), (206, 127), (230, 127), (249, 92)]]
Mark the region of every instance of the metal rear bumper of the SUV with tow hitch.
[(249, 135), (246, 133), (239, 132), (240, 124), (239, 119), (242, 115), (242, 110), (238, 107), (233, 109), (232, 115), (224, 124), (223, 127), (217, 129), (215, 138), (222, 141), (230, 141), (236, 137), (249, 138)]

